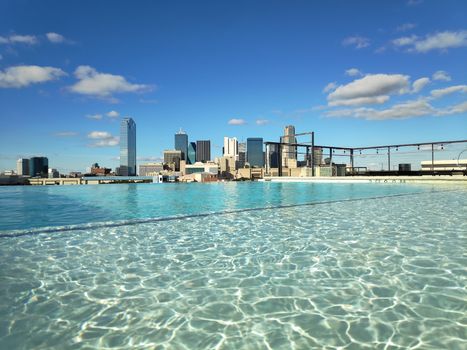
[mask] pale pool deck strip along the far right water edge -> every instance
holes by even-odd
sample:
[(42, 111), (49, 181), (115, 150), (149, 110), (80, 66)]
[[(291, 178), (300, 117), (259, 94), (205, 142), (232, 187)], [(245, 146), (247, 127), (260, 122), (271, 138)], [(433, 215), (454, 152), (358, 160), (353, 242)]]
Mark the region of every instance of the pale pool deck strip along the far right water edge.
[(463, 183), (467, 176), (333, 176), (333, 177), (286, 177), (271, 176), (258, 181), (314, 182), (314, 183)]

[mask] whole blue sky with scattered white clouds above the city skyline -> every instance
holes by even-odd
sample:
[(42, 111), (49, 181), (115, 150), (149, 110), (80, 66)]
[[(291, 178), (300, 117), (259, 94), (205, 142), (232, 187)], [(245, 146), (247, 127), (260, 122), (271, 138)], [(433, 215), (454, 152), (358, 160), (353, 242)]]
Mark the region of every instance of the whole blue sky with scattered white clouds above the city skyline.
[(139, 162), (190, 141), (467, 138), (466, 1), (2, 1), (0, 169)]

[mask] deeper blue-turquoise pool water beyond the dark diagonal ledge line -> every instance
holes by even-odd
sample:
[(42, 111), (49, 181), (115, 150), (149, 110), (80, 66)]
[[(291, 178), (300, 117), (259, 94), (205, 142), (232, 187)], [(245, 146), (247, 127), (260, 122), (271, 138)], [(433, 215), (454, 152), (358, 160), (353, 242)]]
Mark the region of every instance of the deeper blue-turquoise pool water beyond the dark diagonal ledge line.
[(259, 182), (0, 187), (0, 233), (430, 190), (400, 184)]

